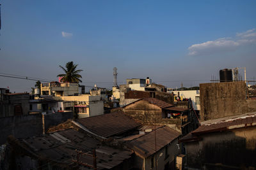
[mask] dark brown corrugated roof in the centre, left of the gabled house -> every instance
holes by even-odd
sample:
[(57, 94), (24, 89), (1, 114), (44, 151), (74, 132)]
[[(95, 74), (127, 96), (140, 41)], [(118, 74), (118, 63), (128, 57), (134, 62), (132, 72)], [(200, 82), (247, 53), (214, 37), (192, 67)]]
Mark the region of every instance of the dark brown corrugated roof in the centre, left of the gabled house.
[(94, 134), (103, 136), (104, 138), (131, 131), (141, 125), (140, 122), (136, 122), (136, 120), (128, 117), (122, 112), (80, 118), (76, 120), (76, 122), (83, 125)]

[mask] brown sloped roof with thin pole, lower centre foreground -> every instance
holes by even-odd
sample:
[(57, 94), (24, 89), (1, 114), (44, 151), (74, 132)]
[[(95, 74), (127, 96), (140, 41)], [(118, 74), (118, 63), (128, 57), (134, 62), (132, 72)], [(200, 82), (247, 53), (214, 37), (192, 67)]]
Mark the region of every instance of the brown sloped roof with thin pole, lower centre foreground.
[[(156, 129), (156, 149), (155, 149), (155, 131), (149, 132), (143, 136), (132, 139), (127, 146), (138, 153), (140, 157), (147, 158), (153, 153), (168, 145), (174, 139), (178, 138), (180, 133), (170, 127), (159, 127)], [(129, 139), (129, 138), (128, 138)], [(126, 139), (127, 140), (127, 139)]]

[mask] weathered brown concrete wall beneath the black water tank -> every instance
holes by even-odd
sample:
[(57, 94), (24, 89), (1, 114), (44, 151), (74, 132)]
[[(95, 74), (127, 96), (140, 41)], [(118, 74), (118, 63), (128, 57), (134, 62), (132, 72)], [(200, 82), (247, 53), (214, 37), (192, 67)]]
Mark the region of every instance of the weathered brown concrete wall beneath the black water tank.
[(246, 99), (244, 81), (200, 84), (201, 120), (256, 111), (256, 100)]

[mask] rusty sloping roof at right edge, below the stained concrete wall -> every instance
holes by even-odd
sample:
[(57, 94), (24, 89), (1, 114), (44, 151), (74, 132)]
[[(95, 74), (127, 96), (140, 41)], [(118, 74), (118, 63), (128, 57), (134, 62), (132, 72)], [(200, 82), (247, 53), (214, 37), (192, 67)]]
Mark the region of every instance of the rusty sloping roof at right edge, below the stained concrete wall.
[(201, 134), (207, 134), (211, 132), (221, 132), (229, 131), (231, 129), (237, 129), (242, 127), (250, 127), (256, 125), (256, 112), (246, 113), (241, 117), (233, 118), (222, 118), (223, 120), (218, 119), (217, 122), (214, 120), (202, 122), (202, 125), (198, 127), (195, 131), (189, 133), (180, 139), (180, 142), (188, 142), (198, 140)]

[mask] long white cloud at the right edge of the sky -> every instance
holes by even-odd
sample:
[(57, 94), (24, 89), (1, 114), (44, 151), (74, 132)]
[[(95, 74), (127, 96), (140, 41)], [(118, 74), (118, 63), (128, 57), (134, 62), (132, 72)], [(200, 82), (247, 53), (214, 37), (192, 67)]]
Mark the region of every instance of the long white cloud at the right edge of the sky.
[(236, 38), (220, 38), (214, 41), (189, 46), (189, 55), (207, 55), (216, 52), (236, 50), (238, 46), (248, 45), (256, 42), (256, 31), (250, 29), (239, 32)]

